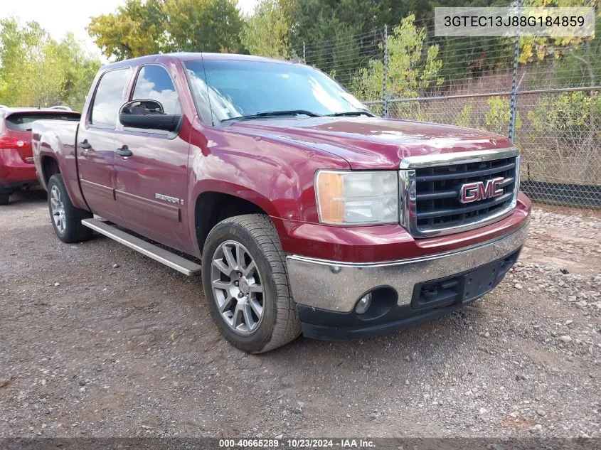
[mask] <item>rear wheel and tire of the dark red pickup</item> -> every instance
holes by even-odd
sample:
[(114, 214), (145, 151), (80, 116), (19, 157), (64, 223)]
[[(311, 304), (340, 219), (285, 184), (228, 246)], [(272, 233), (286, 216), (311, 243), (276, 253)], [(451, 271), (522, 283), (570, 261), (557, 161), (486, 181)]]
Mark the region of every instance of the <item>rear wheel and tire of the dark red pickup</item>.
[(92, 237), (92, 230), (82, 225), (81, 221), (92, 218), (93, 215), (73, 206), (60, 173), (51, 176), (48, 181), (48, 209), (58, 239), (69, 244)]

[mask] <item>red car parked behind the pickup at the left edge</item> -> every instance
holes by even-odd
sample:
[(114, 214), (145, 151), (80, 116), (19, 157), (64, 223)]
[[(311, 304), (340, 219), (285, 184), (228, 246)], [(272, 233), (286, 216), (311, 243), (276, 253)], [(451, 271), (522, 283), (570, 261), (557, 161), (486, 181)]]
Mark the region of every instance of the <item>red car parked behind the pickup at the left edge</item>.
[(31, 127), (39, 119), (79, 119), (63, 107), (49, 109), (0, 106), (0, 205), (17, 189), (38, 185), (31, 151)]

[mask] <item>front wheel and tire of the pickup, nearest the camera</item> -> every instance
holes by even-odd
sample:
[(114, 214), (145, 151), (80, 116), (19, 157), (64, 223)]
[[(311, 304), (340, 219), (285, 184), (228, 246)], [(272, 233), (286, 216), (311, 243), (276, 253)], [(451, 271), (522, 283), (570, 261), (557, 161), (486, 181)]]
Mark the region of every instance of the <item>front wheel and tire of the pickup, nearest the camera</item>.
[(284, 252), (266, 215), (238, 215), (213, 227), (202, 275), (211, 315), (235, 347), (262, 353), (299, 336)]

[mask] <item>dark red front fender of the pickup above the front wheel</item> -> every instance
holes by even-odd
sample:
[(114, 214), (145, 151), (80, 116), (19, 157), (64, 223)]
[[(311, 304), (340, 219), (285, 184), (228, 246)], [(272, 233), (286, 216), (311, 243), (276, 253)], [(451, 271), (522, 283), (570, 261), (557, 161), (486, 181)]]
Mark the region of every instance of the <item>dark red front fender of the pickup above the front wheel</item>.
[[(213, 191), (248, 200), (273, 219), (318, 223), (314, 176), (319, 168), (350, 166), (338, 156), (297, 143), (195, 121), (188, 155), (188, 208), (198, 195)], [(196, 229), (195, 219), (189, 214), (190, 230)]]

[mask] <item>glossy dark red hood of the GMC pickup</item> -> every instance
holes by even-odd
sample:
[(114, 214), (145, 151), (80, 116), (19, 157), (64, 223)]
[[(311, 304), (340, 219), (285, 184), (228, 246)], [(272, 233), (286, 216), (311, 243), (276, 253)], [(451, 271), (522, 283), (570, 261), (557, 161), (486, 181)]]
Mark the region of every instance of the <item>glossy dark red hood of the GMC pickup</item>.
[(407, 156), (511, 147), (499, 134), (379, 117), (310, 117), (234, 122), (237, 132), (327, 151), (353, 169), (398, 168)]

